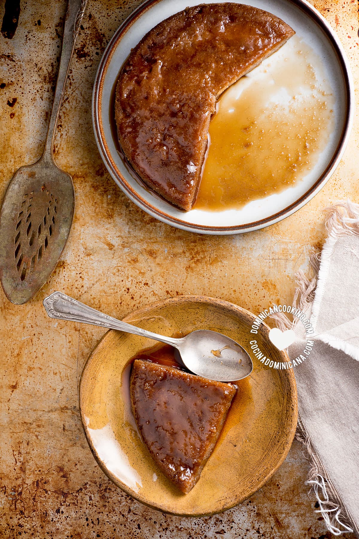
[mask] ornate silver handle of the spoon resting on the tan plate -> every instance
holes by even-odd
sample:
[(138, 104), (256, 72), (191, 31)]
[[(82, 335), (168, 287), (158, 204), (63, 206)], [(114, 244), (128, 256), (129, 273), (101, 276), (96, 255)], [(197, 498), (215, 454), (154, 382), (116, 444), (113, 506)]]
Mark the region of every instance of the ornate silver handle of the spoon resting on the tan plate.
[(47, 296), (47, 298), (44, 299), (43, 304), (46, 309), (46, 313), (51, 318), (83, 322), (109, 329), (118, 329), (119, 331), (139, 335), (140, 337), (153, 338), (155, 341), (171, 344), (175, 347), (177, 347), (179, 341), (181, 341), (181, 339), (164, 337), (163, 335), (152, 333), (146, 329), (131, 326), (131, 324), (122, 322), (116, 318), (112, 318), (112, 316), (103, 314), (99, 310), (93, 309), (80, 301), (74, 300), (73, 298), (70, 298), (70, 296), (62, 294), (62, 292), (53, 292), (50, 294), (50, 296)]

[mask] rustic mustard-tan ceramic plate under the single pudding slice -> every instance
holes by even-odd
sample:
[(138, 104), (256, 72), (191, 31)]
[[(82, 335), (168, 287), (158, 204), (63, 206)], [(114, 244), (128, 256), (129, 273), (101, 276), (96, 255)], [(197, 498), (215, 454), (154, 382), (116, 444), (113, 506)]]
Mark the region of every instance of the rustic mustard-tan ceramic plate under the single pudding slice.
[[(164, 335), (213, 329), (250, 350), (254, 315), (226, 301), (179, 296), (124, 319)], [(269, 328), (256, 335), (259, 348), (275, 361), (288, 361), (273, 347)], [(247, 499), (285, 459), (297, 425), (293, 371), (264, 367), (252, 355), (254, 370), (239, 389), (221, 436), (196, 486), (182, 494), (157, 469), (139, 438), (130, 409), (129, 359), (153, 345), (143, 337), (108, 331), (83, 369), (80, 412), (86, 437), (104, 473), (136, 500), (175, 515), (209, 515)]]

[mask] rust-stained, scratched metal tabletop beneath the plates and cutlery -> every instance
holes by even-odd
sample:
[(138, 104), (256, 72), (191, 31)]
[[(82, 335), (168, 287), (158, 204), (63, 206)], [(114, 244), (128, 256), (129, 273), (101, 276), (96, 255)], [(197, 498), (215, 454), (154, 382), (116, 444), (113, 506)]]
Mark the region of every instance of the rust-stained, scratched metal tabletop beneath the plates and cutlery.
[[(314, 495), (304, 485), (308, 462), (298, 442), (250, 500), (202, 519), (167, 516), (133, 501), (103, 475), (86, 443), (77, 388), (103, 330), (50, 321), (42, 307), (47, 294), (62, 290), (117, 317), (177, 294), (219, 297), (258, 313), (271, 302), (291, 302), (294, 272), (308, 272), (308, 253), (325, 238), (322, 208), (336, 199), (359, 200), (356, 118), (346, 154), (325, 188), (269, 229), (197, 236), (157, 222), (132, 204), (98, 155), (90, 97), (104, 46), (138, 4), (89, 0), (55, 150), (59, 166), (74, 178), (73, 229), (52, 278), (36, 298), (15, 306), (0, 292), (0, 535), (332, 537), (314, 513)], [(314, 5), (339, 33), (358, 88), (357, 1)], [(13, 38), (0, 34), (0, 199), (13, 172), (41, 154), (65, 2), (21, 0), (20, 8)], [(1, 20), (3, 15), (1, 2)]]

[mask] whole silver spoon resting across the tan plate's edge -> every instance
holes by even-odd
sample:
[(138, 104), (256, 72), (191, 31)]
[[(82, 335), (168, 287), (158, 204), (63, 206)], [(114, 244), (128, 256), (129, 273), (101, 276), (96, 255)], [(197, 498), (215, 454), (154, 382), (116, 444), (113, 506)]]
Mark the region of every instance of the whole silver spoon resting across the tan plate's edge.
[(43, 303), (51, 318), (118, 329), (171, 344), (179, 351), (185, 367), (205, 378), (219, 382), (234, 382), (250, 375), (253, 369), (252, 360), (244, 348), (233, 339), (216, 331), (199, 329), (181, 338), (164, 337), (116, 320), (61, 292), (53, 292)]

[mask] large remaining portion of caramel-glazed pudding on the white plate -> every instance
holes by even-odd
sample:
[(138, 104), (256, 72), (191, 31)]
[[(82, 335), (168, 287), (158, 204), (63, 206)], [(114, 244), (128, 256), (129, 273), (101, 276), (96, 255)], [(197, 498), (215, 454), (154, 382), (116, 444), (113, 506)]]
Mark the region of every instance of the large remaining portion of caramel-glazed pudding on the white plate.
[(223, 3), (187, 8), (145, 35), (119, 75), (115, 118), (125, 156), (151, 189), (192, 208), (217, 98), (294, 33), (268, 11)]

